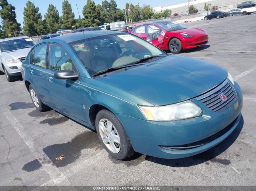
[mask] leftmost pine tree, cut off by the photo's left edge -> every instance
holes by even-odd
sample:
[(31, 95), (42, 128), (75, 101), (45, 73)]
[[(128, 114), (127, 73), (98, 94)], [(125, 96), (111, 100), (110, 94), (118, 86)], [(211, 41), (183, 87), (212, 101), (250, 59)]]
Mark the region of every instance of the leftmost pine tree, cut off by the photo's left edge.
[(4, 33), (6, 36), (18, 35), (20, 33), (20, 24), (16, 20), (15, 7), (12, 4), (8, 4), (7, 0), (0, 0), (0, 15), (2, 18), (2, 24), (4, 28)]

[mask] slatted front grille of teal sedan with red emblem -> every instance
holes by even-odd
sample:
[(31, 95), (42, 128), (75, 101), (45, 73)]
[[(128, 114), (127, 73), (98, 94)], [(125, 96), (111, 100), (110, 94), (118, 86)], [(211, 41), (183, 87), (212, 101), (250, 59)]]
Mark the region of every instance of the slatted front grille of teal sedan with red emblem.
[[(220, 93), (224, 93), (227, 100), (223, 101), (220, 98)], [(199, 96), (197, 98), (200, 102), (202, 102), (205, 106), (207, 106), (210, 110), (220, 113), (226, 110), (232, 103), (237, 100), (236, 91), (234, 87), (230, 84), (228, 80), (224, 81), (220, 87), (215, 88), (214, 90), (207, 93), (207, 96)]]

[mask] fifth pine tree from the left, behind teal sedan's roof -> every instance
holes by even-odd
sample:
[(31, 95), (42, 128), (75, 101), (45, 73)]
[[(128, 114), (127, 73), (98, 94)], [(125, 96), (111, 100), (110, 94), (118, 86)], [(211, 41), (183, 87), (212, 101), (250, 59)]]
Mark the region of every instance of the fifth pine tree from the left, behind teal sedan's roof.
[(84, 20), (83, 20), (84, 26), (97, 26), (96, 5), (94, 1), (87, 0), (87, 3), (83, 9), (83, 15), (84, 15)]

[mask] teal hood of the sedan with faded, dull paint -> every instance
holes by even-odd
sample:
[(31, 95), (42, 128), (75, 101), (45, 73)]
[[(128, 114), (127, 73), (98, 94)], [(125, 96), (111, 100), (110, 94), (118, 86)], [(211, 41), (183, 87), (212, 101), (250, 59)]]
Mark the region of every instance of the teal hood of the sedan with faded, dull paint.
[(220, 66), (170, 55), (98, 80), (154, 105), (166, 105), (199, 96), (222, 83), (227, 76), (228, 72)]

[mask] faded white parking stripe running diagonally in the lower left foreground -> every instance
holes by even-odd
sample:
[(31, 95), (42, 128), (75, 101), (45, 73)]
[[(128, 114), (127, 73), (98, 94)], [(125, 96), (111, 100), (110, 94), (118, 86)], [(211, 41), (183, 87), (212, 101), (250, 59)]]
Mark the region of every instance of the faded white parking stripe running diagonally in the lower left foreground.
[(50, 175), (53, 183), (58, 184), (62, 181), (65, 181), (69, 185), (71, 185), (68, 179), (66, 179), (65, 175), (54, 165), (54, 163), (52, 163), (51, 159), (48, 158), (48, 156), (43, 151), (36, 149), (36, 143), (33, 141), (31, 136), (26, 133), (23, 126), (15, 118), (15, 116), (7, 108), (2, 108), (1, 110), (6, 118), (9, 120), (9, 122), (12, 124), (14, 129), (18, 132), (22, 140), (26, 143), (28, 148), (34, 154), (34, 156), (41, 163), (42, 167), (44, 167), (46, 172)]

